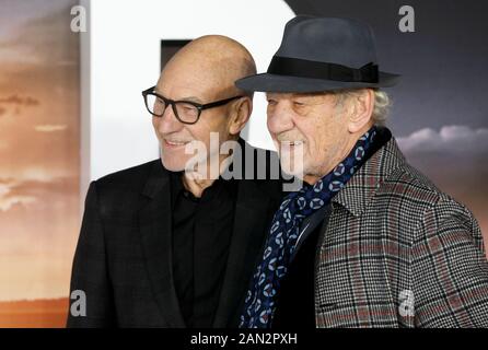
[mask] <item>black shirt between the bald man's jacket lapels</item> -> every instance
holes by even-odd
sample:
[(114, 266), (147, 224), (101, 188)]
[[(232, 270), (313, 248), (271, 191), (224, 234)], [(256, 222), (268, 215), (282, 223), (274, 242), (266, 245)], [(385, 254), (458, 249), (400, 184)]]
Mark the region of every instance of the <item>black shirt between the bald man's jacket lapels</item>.
[(200, 198), (171, 173), (173, 273), (187, 327), (212, 326), (232, 236), (236, 182), (218, 178)]

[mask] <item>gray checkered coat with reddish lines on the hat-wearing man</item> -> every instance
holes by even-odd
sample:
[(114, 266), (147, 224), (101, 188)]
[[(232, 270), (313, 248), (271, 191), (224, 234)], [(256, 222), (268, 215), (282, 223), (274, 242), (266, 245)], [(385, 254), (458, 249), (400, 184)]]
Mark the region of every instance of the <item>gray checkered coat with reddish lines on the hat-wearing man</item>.
[(332, 200), (319, 244), (317, 327), (488, 327), (478, 223), (394, 138)]

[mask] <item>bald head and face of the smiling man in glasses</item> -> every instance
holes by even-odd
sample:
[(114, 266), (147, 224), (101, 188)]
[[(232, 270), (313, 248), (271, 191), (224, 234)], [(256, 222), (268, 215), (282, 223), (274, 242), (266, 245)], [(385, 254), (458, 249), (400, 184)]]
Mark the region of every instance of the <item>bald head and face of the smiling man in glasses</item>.
[[(240, 43), (219, 35), (197, 38), (183, 47), (164, 67), (158, 85), (159, 95), (182, 102), (179, 108), (165, 106), (152, 122), (162, 145), (163, 165), (173, 172), (185, 168), (191, 159), (186, 145), (205, 144), (206, 161), (223, 162), (220, 145), (236, 140), (253, 110), (252, 95), (240, 91), (234, 82), (256, 73), (249, 51)], [(195, 122), (185, 122), (177, 114), (185, 104), (221, 104), (201, 109)], [(188, 108), (188, 105), (186, 105)], [(193, 108), (189, 108), (193, 109)], [(195, 109), (193, 109), (195, 110)], [(217, 135), (218, 147), (211, 142)], [(214, 140), (214, 139), (213, 139)], [(210, 168), (210, 166), (208, 167)]]

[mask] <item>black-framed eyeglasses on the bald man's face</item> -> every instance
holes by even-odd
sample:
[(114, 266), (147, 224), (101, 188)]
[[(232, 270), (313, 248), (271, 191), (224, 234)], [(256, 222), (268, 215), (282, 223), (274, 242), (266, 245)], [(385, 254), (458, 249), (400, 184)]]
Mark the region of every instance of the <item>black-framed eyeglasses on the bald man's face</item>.
[(176, 118), (183, 124), (195, 124), (198, 121), (201, 110), (223, 106), (231, 101), (243, 97), (234, 96), (202, 105), (191, 101), (173, 101), (166, 98), (158, 94), (154, 89), (155, 86), (152, 86), (142, 92), (148, 112), (155, 117), (162, 117), (166, 107), (171, 105)]

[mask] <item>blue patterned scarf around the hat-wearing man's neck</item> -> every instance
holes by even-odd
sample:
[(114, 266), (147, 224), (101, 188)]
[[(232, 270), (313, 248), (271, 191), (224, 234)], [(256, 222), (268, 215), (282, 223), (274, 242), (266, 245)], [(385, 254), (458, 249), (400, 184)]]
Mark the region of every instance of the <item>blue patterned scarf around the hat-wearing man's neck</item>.
[(349, 155), (315, 185), (304, 184), (288, 195), (275, 213), (263, 259), (253, 276), (241, 315), (241, 328), (269, 328), (275, 296), (290, 265), (303, 220), (330, 202), (362, 165), (376, 135), (373, 126), (356, 143)]

